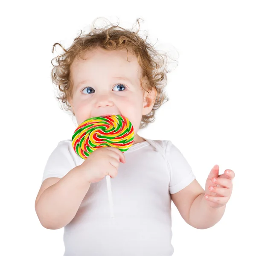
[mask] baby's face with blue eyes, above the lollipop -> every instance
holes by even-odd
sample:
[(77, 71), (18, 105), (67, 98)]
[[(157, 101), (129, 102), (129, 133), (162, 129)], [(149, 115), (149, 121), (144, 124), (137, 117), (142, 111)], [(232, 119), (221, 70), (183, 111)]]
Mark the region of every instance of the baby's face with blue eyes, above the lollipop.
[[(151, 111), (144, 101), (140, 87), (141, 67), (134, 55), (127, 51), (93, 49), (71, 65), (73, 99), (70, 105), (78, 125), (84, 120), (105, 115), (127, 117), (134, 134), (140, 127), (142, 115)], [(145, 102), (145, 103), (144, 103)]]

